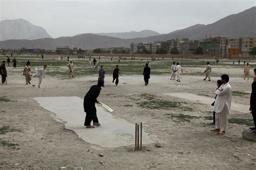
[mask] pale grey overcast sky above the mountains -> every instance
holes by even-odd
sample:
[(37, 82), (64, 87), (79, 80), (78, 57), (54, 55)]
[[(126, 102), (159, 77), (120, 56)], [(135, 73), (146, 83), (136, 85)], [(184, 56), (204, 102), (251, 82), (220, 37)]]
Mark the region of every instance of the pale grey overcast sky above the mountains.
[(256, 6), (255, 0), (0, 0), (0, 20), (23, 18), (53, 38), (79, 33), (170, 33), (211, 24)]

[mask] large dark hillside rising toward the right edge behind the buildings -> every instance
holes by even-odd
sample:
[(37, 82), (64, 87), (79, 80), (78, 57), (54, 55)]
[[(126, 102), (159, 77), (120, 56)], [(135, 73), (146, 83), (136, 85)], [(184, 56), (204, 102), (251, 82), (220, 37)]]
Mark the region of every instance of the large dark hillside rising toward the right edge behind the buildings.
[(192, 40), (211, 37), (256, 37), (256, 6), (243, 12), (233, 14), (218, 20), (215, 23), (197, 24), (183, 30), (177, 30), (160, 36), (136, 39), (135, 42), (152, 42), (174, 38), (190, 38)]

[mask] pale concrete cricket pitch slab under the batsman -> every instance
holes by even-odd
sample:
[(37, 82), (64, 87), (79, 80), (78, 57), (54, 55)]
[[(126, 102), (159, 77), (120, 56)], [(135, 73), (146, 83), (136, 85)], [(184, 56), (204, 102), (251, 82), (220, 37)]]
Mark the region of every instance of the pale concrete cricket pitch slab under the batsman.
[[(135, 125), (124, 119), (113, 117), (102, 107), (96, 105), (101, 126), (86, 129), (83, 99), (79, 97), (36, 97), (41, 107), (56, 114), (56, 120), (66, 122), (66, 129), (78, 134), (80, 138), (92, 144), (98, 150), (134, 145)], [(139, 123), (139, 122), (138, 122)], [(154, 138), (143, 131), (143, 145), (154, 143)]]

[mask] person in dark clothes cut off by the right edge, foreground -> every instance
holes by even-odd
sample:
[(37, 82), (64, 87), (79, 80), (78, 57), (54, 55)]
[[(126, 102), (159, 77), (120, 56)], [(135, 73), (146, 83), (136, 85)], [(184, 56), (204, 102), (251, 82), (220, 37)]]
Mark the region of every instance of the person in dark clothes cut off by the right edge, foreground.
[(250, 98), (250, 109), (253, 117), (254, 127), (251, 130), (256, 130), (256, 68), (254, 69), (254, 79), (252, 83), (252, 93)]

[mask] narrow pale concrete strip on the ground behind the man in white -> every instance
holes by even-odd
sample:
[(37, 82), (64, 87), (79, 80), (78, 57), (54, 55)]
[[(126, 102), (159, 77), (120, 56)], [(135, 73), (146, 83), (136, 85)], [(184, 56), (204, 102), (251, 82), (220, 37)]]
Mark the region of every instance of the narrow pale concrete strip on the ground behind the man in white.
[[(196, 102), (196, 103), (197, 102), (204, 103), (207, 105), (211, 105), (212, 102), (214, 101), (214, 98), (212, 98), (212, 97), (200, 96), (200, 95), (195, 95), (195, 94), (191, 94), (191, 93), (164, 93), (164, 95), (183, 98), (188, 101), (192, 101), (192, 102)], [(250, 108), (249, 104), (245, 105), (245, 104), (239, 104), (239, 103), (235, 103), (235, 102), (231, 103), (231, 110), (239, 111), (242, 113), (248, 113), (248, 112), (250, 112), (249, 108)]]

